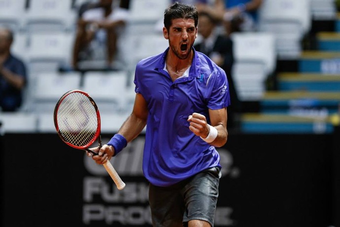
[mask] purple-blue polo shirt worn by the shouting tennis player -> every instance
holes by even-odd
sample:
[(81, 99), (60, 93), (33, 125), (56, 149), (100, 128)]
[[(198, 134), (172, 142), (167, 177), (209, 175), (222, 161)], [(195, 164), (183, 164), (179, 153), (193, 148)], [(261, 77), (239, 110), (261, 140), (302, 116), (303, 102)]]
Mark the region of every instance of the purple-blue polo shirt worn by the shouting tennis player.
[(230, 105), (225, 72), (207, 56), (194, 50), (189, 76), (172, 82), (164, 70), (162, 54), (141, 60), (136, 66), (136, 92), (147, 102), (143, 174), (153, 185), (166, 187), (201, 172), (220, 166), (215, 147), (189, 129), (188, 116)]

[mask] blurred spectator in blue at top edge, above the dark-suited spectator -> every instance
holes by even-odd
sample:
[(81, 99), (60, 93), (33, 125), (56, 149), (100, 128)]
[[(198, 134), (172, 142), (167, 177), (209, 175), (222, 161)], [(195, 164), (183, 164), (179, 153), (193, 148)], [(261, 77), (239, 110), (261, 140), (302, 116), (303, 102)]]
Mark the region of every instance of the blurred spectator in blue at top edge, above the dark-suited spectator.
[(200, 12), (214, 15), (217, 21), (223, 22), (225, 32), (256, 31), (258, 9), (263, 0), (215, 0), (212, 7), (199, 7)]

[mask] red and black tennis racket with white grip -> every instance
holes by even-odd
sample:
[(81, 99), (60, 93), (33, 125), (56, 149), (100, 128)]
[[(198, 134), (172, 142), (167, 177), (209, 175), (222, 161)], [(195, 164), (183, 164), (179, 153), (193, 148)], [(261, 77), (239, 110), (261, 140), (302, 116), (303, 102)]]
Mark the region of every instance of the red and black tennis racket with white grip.
[[(59, 137), (68, 146), (98, 155), (88, 149), (97, 139), (102, 147), (101, 117), (95, 101), (84, 91), (66, 92), (54, 109), (54, 125)], [(109, 160), (103, 166), (119, 190), (125, 183)]]

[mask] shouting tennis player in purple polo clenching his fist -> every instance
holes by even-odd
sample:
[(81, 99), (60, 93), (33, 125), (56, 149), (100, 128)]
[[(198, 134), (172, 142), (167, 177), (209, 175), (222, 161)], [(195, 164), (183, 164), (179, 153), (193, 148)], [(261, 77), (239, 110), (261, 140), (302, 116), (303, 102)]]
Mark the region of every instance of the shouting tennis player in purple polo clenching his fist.
[(146, 125), (143, 173), (155, 227), (214, 225), (221, 177), (215, 147), (227, 142), (230, 97), (226, 73), (193, 48), (197, 24), (194, 5), (165, 9), (169, 48), (136, 65), (132, 114), (106, 145), (92, 148), (103, 164)]

